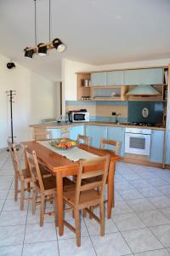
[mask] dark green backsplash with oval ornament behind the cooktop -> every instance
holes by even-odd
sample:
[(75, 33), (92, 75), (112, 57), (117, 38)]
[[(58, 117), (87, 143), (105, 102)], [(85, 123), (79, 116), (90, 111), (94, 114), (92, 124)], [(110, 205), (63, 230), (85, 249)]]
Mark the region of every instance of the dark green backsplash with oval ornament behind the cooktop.
[[(146, 118), (142, 115), (144, 108), (149, 110), (149, 115)], [(128, 102), (128, 122), (162, 124), (163, 102)]]

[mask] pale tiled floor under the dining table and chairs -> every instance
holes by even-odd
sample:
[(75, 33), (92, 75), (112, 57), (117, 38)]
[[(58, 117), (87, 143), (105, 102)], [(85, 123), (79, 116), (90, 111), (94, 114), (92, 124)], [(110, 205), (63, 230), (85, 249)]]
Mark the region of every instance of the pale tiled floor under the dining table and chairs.
[[(74, 222), (71, 212), (65, 218)], [(170, 255), (170, 171), (117, 163), (116, 207), (111, 219), (105, 219), (105, 236), (99, 236), (94, 219), (82, 218), (82, 246), (77, 247), (70, 230), (58, 235), (53, 217), (46, 217), (40, 228), (38, 208), (33, 216), (26, 203), (20, 212), (9, 154), (0, 150), (0, 255)]]

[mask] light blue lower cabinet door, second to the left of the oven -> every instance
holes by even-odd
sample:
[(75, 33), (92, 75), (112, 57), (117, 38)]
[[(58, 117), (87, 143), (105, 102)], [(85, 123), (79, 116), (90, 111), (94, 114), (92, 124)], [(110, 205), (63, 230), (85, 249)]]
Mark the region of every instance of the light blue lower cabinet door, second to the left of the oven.
[(98, 125), (87, 125), (86, 136), (90, 137), (90, 145), (99, 148), (101, 138), (107, 137), (107, 127)]

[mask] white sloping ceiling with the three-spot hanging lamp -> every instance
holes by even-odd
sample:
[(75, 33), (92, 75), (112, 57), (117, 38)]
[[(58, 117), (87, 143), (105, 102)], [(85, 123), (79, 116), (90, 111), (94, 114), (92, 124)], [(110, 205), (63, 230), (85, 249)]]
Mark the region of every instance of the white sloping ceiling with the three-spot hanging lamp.
[[(65, 53), (24, 57), (34, 45), (34, 0), (0, 0), (0, 54), (57, 81), (61, 59), (104, 65), (170, 57), (170, 0), (51, 0), (52, 39)], [(48, 42), (48, 0), (37, 0), (37, 41)]]

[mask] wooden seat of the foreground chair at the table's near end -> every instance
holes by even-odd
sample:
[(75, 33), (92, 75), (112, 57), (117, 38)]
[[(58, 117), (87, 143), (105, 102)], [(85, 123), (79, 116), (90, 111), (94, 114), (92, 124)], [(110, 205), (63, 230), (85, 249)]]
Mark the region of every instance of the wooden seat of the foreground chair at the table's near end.
[[(64, 199), (75, 205), (75, 194), (76, 193), (76, 184), (64, 188)], [(99, 200), (99, 192), (95, 189), (89, 189), (81, 192), (79, 205), (87, 203), (91, 205), (91, 201)]]

